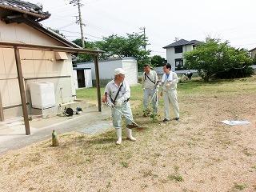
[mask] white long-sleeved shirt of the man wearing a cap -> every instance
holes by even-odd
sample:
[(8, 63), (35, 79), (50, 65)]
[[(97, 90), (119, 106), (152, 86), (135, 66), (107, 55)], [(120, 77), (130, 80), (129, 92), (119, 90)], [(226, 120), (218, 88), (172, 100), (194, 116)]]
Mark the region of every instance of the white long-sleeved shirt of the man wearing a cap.
[[(122, 84), (122, 88), (119, 91), (118, 97), (116, 98), (115, 102), (117, 102), (118, 100), (121, 102), (125, 102), (127, 101), (128, 98), (130, 98), (129, 84), (126, 81), (123, 81), (121, 84)], [(108, 84), (106, 84), (106, 87), (105, 87), (105, 93), (107, 94), (106, 102), (111, 103), (112, 101), (114, 101), (114, 98), (116, 97), (120, 86), (115, 84), (114, 79)]]

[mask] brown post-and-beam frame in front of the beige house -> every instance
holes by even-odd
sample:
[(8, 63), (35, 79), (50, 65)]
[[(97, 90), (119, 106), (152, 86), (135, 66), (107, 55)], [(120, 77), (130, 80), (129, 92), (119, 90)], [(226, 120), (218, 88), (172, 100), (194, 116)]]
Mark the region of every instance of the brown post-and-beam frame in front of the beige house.
[[(47, 50), (47, 51), (63, 51), (66, 53), (74, 53), (74, 54), (92, 54), (94, 55), (94, 65), (95, 65), (95, 74), (96, 74), (96, 88), (97, 88), (97, 98), (98, 98), (98, 111), (102, 111), (102, 101), (101, 101), (101, 90), (99, 86), (99, 69), (98, 69), (98, 55), (103, 53), (102, 50), (87, 50), (80, 48), (72, 48), (65, 46), (43, 46), (36, 44), (25, 44), (22, 42), (2, 42), (0, 41), (0, 47), (2, 48), (13, 48), (16, 60), (16, 67), (18, 73), (18, 84), (19, 90), (21, 94), (22, 101), (22, 113), (24, 118), (26, 135), (30, 134), (30, 122), (28, 117), (28, 110), (26, 106), (26, 90), (24, 85), (24, 77), (22, 74), (22, 62), (20, 58), (19, 50)], [(2, 98), (0, 92), (0, 121), (4, 121), (3, 107), (2, 107)]]

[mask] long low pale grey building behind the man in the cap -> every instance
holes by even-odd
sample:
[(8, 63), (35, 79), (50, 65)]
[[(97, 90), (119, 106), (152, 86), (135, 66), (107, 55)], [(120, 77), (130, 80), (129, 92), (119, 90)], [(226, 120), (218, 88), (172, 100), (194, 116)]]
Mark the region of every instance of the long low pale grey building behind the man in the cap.
[[(115, 58), (105, 61), (99, 61), (100, 73), (100, 85), (106, 86), (107, 82), (110, 82), (114, 78), (114, 69), (122, 68), (126, 71), (126, 81), (130, 85), (138, 83), (138, 63), (135, 58)], [(90, 68), (92, 73), (93, 85), (95, 86), (95, 70), (94, 62), (82, 62), (77, 63), (78, 68)], [(75, 69), (75, 68), (74, 68)]]

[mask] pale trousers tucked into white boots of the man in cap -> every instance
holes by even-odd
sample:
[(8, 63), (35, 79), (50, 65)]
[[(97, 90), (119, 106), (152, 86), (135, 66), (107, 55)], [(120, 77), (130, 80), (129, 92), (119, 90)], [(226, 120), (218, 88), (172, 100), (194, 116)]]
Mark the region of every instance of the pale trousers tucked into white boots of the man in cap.
[(134, 121), (134, 118), (130, 109), (130, 102), (126, 102), (123, 106), (115, 106), (112, 108), (112, 122), (116, 129), (122, 128), (122, 114), (118, 110), (120, 110), (122, 114), (125, 114), (123, 116), (126, 118), (126, 125), (131, 125), (133, 122), (130, 121), (130, 119)]

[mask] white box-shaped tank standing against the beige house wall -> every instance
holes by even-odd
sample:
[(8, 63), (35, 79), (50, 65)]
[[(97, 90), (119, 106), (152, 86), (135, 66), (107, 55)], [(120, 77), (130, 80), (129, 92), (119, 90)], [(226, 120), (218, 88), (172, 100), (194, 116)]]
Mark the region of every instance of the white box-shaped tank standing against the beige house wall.
[(55, 106), (53, 82), (33, 82), (30, 84), (32, 107), (46, 109)]

